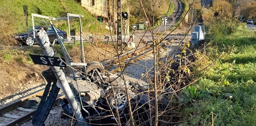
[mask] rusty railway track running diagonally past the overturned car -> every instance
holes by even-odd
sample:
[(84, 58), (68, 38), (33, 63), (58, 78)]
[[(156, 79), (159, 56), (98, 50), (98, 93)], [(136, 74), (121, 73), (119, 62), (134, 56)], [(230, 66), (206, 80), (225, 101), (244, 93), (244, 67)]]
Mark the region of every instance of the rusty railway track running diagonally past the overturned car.
[[(119, 60), (123, 65), (129, 63), (135, 63), (137, 60), (143, 58), (145, 55), (153, 52), (150, 47), (142, 47), (137, 49), (135, 52), (128, 53), (127, 55), (121, 56), (112, 61), (104, 63), (104, 67), (111, 73), (118, 72), (120, 67)], [(129, 62), (131, 58), (131, 61)], [(32, 116), (36, 112), (40, 98), (43, 96), (44, 90), (39, 91), (35, 94), (26, 96), (18, 101), (8, 104), (0, 108), (0, 126), (16, 126), (32, 119)], [(59, 99), (64, 98), (65, 95), (59, 94), (55, 100), (54, 105), (58, 103)]]

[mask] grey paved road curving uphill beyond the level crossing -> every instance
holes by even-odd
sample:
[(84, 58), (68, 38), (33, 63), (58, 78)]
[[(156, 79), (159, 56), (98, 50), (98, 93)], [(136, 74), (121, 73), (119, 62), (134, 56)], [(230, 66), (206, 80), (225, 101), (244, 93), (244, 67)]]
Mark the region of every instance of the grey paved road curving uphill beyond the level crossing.
[[(184, 11), (184, 7), (182, 5), (182, 3), (179, 0), (173, 0), (174, 3), (174, 12), (171, 16), (168, 17), (167, 20), (167, 29), (172, 28), (175, 23), (177, 23)], [(156, 32), (158, 30), (158, 27), (154, 29), (154, 31)], [(159, 32), (164, 32), (165, 28), (164, 26), (160, 26)], [(132, 35), (133, 32), (130, 32), (130, 35)], [(145, 35), (144, 35), (145, 34)], [(173, 35), (170, 35), (173, 36)], [(151, 41), (153, 40), (152, 34), (150, 31), (135, 31), (134, 32), (134, 42), (139, 42), (140, 39), (144, 39), (146, 41)]]

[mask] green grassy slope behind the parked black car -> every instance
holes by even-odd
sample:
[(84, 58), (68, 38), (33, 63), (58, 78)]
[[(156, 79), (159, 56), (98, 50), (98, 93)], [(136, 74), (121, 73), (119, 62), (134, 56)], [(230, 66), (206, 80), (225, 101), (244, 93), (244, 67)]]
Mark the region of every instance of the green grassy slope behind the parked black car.
[[(105, 28), (98, 22), (86, 9), (81, 7), (74, 0), (1, 0), (0, 1), (0, 17), (6, 21), (12, 20), (11, 32), (17, 33), (26, 31), (25, 16), (23, 13), (23, 5), (28, 6), (28, 23), (32, 26), (31, 13), (36, 13), (51, 17), (64, 17), (66, 13), (81, 14), (82, 26), (84, 32), (104, 32)], [(79, 27), (79, 22), (75, 20), (76, 25)], [(61, 30), (67, 31), (66, 21), (54, 21), (54, 24)], [(70, 21), (71, 29), (78, 30)], [(35, 18), (35, 25), (50, 25), (49, 20)]]

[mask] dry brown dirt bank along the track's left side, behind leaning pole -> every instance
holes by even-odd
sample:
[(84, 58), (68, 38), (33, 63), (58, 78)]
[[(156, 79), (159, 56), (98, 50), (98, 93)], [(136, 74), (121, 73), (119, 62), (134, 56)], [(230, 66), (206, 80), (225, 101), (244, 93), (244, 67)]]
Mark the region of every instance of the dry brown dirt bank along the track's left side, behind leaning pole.
[[(73, 62), (81, 62), (79, 46), (67, 44), (66, 48)], [(60, 47), (54, 50), (60, 52)], [(0, 101), (44, 85), (41, 72), (48, 67), (34, 64), (29, 54), (42, 55), (42, 50), (39, 46), (0, 46)], [(84, 54), (85, 61), (90, 62), (112, 59), (116, 52), (112, 45), (99, 43), (97, 46), (85, 45)]]

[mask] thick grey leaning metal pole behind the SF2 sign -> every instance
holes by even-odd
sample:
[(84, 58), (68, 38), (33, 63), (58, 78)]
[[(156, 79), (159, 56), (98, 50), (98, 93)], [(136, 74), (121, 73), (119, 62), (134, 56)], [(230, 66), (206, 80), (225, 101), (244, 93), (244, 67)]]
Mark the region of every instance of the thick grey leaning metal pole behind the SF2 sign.
[[(50, 47), (49, 37), (45, 31), (37, 30), (36, 31), (36, 39), (37, 39), (40, 47), (42, 48), (45, 56), (54, 56), (53, 48)], [(64, 72), (62, 71), (62, 69), (60, 69), (60, 67), (56, 67), (56, 66), (50, 66), (50, 67), (58, 80), (58, 83), (59, 83), (59, 84), (57, 83), (58, 87), (64, 92), (66, 99), (74, 112), (77, 122), (81, 126), (87, 126), (86, 123), (83, 123), (84, 118), (80, 111), (80, 107), (78, 106), (78, 104), (75, 100), (75, 97), (68, 85), (68, 82), (66, 80)]]

